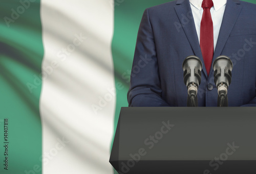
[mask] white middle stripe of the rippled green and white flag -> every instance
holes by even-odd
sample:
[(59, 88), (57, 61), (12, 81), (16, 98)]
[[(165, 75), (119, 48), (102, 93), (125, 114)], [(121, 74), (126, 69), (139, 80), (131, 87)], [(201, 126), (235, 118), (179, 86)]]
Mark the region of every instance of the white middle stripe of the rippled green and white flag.
[[(115, 88), (113, 7), (105, 0), (41, 0), (40, 13), (43, 173), (113, 173), (109, 157), (116, 99), (97, 115), (92, 109)], [(59, 148), (63, 137), (69, 142)]]

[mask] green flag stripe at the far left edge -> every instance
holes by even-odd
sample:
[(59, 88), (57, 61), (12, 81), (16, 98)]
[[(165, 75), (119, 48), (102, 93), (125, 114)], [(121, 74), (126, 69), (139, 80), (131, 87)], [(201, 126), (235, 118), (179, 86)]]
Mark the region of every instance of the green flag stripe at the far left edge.
[[(26, 1), (24, 1), (26, 2)], [(26, 173), (41, 169), (41, 122), (39, 98), (44, 54), (41, 39), (40, 1), (22, 4), (18, 0), (0, 7), (0, 149), (9, 142), (8, 156), (0, 154), (0, 173)], [(27, 7), (27, 8), (26, 8)], [(28, 84), (34, 85), (33, 93)], [(8, 136), (4, 140), (4, 122), (8, 119)], [(3, 165), (8, 157), (8, 170)], [(41, 171), (37, 172), (41, 173)]]

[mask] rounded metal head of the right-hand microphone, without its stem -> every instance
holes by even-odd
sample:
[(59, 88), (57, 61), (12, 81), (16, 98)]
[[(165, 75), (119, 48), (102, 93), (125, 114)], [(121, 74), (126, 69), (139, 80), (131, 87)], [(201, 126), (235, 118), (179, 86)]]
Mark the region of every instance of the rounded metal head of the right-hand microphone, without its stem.
[(214, 69), (215, 84), (219, 86), (219, 84), (223, 83), (228, 87), (231, 83), (231, 71), (233, 69), (231, 59), (224, 55), (219, 56), (214, 60), (212, 68)]

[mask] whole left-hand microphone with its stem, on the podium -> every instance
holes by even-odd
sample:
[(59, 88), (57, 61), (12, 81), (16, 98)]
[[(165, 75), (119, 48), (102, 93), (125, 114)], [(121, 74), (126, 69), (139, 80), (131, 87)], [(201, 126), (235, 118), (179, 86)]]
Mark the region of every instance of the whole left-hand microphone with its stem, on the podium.
[[(203, 64), (199, 57), (188, 56), (182, 64), (184, 83), (187, 86), (187, 106), (198, 106), (197, 104), (197, 91), (201, 83), (201, 71)], [(190, 98), (190, 101), (189, 101)]]

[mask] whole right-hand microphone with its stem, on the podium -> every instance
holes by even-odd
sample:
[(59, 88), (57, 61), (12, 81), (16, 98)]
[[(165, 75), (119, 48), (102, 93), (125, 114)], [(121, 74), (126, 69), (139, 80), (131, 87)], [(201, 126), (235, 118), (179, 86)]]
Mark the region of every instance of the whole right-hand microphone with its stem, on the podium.
[(228, 106), (227, 89), (231, 83), (233, 63), (227, 56), (219, 56), (212, 65), (214, 69), (214, 82), (218, 90), (218, 106)]

